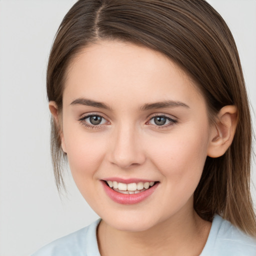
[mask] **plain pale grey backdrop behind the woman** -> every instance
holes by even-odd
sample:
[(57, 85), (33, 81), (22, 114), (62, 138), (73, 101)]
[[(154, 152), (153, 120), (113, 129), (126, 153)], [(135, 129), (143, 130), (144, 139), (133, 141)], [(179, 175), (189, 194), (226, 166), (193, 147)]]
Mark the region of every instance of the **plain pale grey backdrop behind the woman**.
[[(98, 218), (70, 175), (68, 194), (60, 199), (49, 154), (46, 63), (57, 27), (74, 2), (0, 0), (0, 256), (30, 255)], [(256, 0), (209, 2), (233, 32), (256, 109)], [(252, 179), (256, 183), (255, 174)], [(252, 193), (255, 202), (254, 188)]]

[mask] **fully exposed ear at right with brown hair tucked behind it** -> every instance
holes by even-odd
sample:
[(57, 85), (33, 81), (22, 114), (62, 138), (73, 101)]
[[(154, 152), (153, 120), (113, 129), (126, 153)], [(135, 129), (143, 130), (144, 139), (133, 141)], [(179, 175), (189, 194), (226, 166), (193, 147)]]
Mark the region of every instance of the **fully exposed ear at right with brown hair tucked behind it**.
[(208, 156), (219, 157), (225, 153), (232, 143), (237, 121), (236, 106), (227, 105), (220, 109), (215, 125), (211, 127), (210, 141), (207, 148)]

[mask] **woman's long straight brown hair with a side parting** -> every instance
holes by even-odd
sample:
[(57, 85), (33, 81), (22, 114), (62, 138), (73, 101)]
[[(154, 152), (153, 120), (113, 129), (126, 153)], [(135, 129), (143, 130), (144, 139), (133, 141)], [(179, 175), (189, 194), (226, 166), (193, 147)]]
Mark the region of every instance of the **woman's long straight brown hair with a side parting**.
[[(79, 0), (63, 18), (49, 56), (48, 100), (62, 107), (66, 68), (88, 44), (118, 39), (155, 49), (193, 78), (209, 116), (236, 105), (239, 120), (231, 146), (207, 157), (194, 192), (194, 209), (205, 220), (220, 214), (256, 236), (250, 196), (251, 121), (240, 60), (230, 30), (205, 0)], [(52, 120), (51, 153), (58, 189), (61, 175), (59, 128)]]

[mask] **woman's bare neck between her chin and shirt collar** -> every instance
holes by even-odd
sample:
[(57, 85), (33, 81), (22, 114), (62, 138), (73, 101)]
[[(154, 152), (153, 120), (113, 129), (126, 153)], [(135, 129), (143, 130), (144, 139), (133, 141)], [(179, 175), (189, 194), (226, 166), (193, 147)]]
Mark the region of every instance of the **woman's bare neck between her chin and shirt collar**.
[(202, 220), (194, 210), (177, 214), (144, 231), (121, 231), (101, 221), (98, 230), (100, 255), (199, 255), (211, 223)]

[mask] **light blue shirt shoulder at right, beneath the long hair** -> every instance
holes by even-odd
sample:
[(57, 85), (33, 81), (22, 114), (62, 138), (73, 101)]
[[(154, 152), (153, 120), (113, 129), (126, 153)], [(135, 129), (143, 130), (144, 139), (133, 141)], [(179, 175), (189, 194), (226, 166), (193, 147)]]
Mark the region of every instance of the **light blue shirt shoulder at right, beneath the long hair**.
[[(209, 254), (210, 253), (210, 254)], [(201, 256), (255, 256), (256, 239), (215, 215)]]

